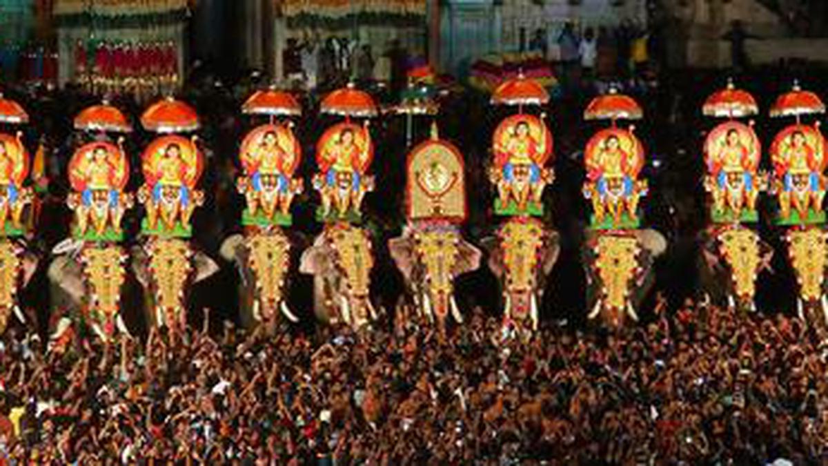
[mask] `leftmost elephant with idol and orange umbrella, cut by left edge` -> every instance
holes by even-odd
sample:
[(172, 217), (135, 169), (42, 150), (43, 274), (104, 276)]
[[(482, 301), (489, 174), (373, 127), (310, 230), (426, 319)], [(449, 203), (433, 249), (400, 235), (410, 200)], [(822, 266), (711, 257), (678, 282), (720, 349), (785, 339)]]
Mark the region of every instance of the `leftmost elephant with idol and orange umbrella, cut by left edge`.
[[(0, 124), (26, 124), (29, 115), (16, 101), (0, 93)], [(29, 155), (22, 133), (0, 130), (0, 333), (10, 323), (12, 313), (25, 323), (17, 302), (17, 292), (28, 284), (37, 267), (37, 256), (26, 244), (26, 216), (31, 215), (32, 190), (25, 187), (29, 174)]]

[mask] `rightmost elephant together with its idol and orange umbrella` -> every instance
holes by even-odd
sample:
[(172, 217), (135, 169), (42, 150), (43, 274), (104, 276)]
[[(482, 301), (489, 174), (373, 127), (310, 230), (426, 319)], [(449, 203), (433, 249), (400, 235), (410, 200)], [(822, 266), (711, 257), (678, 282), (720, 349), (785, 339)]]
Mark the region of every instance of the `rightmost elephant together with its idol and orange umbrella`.
[(828, 233), (823, 205), (828, 158), (819, 122), (803, 124), (801, 119), (825, 111), (818, 95), (796, 84), (770, 110), (772, 117), (796, 119), (773, 138), (770, 148), (772, 192), (779, 205), (776, 223), (787, 230), (787, 255), (799, 285), (799, 315), (823, 328), (828, 327)]

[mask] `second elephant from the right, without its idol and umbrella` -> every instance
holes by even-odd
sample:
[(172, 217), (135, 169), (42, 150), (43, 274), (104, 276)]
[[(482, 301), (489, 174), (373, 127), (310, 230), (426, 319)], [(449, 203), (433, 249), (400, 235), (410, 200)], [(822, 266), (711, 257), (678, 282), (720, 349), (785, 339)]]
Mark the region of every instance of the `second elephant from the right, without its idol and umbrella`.
[(754, 310), (756, 280), (773, 248), (744, 226), (714, 226), (701, 241), (700, 291), (716, 305)]

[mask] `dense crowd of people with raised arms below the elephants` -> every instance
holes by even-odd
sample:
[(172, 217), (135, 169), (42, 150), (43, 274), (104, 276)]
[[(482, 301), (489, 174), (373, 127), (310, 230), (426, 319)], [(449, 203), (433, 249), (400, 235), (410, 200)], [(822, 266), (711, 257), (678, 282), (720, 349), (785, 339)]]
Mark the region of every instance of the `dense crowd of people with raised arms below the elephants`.
[(0, 459), (828, 461), (828, 347), (797, 318), (686, 303), (618, 333), (565, 323), (512, 333), (479, 309), (448, 334), (406, 318), (359, 333), (206, 328), (51, 349), (31, 334), (7, 334)]

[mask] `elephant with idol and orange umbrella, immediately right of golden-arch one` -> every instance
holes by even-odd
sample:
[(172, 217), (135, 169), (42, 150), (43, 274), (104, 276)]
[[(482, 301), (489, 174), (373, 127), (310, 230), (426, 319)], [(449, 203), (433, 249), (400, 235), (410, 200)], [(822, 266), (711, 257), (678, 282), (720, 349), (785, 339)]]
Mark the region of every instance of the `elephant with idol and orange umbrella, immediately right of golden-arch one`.
[(517, 107), (498, 124), (492, 138), (489, 179), (497, 188), (494, 212), (506, 216), (490, 242), (489, 267), (503, 287), (507, 327), (537, 329), (539, 301), (558, 252), (558, 235), (537, 217), (542, 195), (554, 174), (552, 135), (545, 114), (524, 112), (549, 102), (546, 89), (520, 74), (494, 90), (491, 103)]

